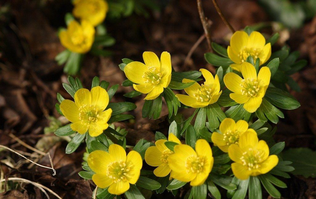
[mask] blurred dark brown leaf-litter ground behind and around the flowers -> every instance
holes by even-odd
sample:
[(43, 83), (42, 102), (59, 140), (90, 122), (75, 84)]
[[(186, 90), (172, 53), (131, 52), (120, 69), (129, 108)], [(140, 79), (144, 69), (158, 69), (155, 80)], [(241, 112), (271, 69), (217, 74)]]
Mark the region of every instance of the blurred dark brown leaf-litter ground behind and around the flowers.
[[(131, 0), (118, 0), (117, 2)], [(190, 50), (204, 34), (195, 0), (135, 0), (134, 10), (127, 16), (125, 7), (115, 7), (108, 13), (105, 25), (116, 43), (107, 50), (111, 56), (86, 55), (80, 74), (83, 86), (89, 88), (94, 76), (113, 84), (122, 84), (126, 79), (118, 64), (122, 58), (143, 61), (143, 51), (160, 54), (168, 51), (176, 71), (214, 67), (204, 59), (208, 52), (207, 42)], [(212, 40), (225, 47), (229, 44), (230, 30), (222, 22), (211, 0), (203, 0), (205, 16), (210, 20)], [(299, 51), (300, 59), (308, 61), (300, 73), (293, 75), (301, 92), (291, 91), (301, 107), (284, 111), (285, 117), (277, 124), (276, 142), (285, 142), (286, 148), (316, 148), (316, 1), (315, 0), (218, 0), (223, 14), (234, 27), (261, 28), (267, 37), (278, 32), (280, 39), (272, 51), (288, 45), (291, 51)], [(114, 7), (113, 7), (114, 6)], [(56, 93), (70, 99), (62, 83), (67, 82), (63, 66), (55, 61), (64, 50), (58, 39), (58, 28), (65, 27), (64, 15), (71, 12), (71, 1), (65, 0), (9, 0), (0, 3), (0, 144), (19, 151), (39, 164), (50, 166), (48, 157), (33, 153), (22, 146), (29, 146), (52, 156), (56, 176), (51, 171), (37, 167), (18, 155), (0, 149), (1, 179), (18, 176), (39, 182), (63, 198), (91, 198), (91, 182), (78, 176), (82, 170), (84, 146), (73, 154), (65, 154), (70, 138), (54, 136), (53, 132), (67, 121), (55, 110)], [(110, 6), (111, 10), (111, 6)], [(189, 53), (189, 55), (188, 55)], [(125, 98), (123, 94), (131, 87), (119, 87), (113, 102), (132, 101), (137, 109), (130, 114), (134, 120), (115, 124), (125, 128), (128, 145), (145, 138), (153, 141), (155, 131), (167, 130), (168, 111), (162, 107), (161, 118), (142, 118), (144, 100)], [(181, 112), (185, 117), (190, 110)], [(311, 157), (315, 158), (316, 157)], [(310, 170), (315, 177), (316, 163)], [(308, 175), (307, 175), (308, 176)], [(316, 179), (291, 176), (285, 179), (287, 189), (280, 189), (284, 198), (316, 198)], [(10, 191), (11, 190), (11, 191)], [(24, 191), (26, 190), (26, 191)], [(0, 198), (42, 198), (43, 193), (30, 184), (8, 184), (0, 186)], [(147, 194), (148, 198), (151, 196)], [(165, 192), (153, 198), (171, 197)], [(222, 196), (225, 196), (223, 194)], [(179, 198), (184, 194), (179, 193)], [(264, 198), (268, 194), (264, 192)]]

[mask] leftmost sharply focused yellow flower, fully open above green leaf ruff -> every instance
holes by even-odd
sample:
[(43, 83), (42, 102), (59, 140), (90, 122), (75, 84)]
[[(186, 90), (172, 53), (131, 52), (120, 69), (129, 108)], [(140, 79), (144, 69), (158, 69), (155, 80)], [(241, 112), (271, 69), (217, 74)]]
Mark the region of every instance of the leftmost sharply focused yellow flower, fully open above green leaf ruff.
[(109, 95), (100, 86), (91, 92), (81, 88), (75, 93), (75, 102), (65, 99), (60, 103), (60, 110), (73, 124), (70, 128), (80, 134), (89, 132), (90, 136), (99, 136), (109, 126), (112, 109), (104, 111), (109, 104)]

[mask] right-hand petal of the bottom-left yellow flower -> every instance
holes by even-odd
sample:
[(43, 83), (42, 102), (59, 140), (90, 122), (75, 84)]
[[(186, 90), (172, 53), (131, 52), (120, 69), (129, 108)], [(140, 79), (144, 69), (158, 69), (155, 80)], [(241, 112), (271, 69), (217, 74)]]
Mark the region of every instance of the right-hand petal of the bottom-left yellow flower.
[(139, 178), (140, 170), (143, 166), (143, 160), (137, 151), (130, 151), (126, 156), (126, 165), (132, 165), (131, 170), (128, 172), (128, 182), (135, 184)]

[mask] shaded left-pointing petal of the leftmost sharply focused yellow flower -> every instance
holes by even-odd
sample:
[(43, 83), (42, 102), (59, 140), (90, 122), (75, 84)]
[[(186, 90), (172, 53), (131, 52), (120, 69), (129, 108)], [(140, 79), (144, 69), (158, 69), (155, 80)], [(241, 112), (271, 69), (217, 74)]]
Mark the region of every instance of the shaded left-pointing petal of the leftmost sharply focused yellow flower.
[(59, 108), (70, 122), (75, 123), (79, 121), (79, 108), (75, 102), (65, 99), (60, 103)]

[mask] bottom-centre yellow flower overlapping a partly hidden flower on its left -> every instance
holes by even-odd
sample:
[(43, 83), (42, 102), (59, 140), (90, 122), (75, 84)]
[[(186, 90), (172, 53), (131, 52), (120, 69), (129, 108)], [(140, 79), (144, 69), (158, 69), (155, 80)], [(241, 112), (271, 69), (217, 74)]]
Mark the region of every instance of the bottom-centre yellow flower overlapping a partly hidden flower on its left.
[(199, 139), (195, 143), (195, 151), (189, 145), (174, 146), (174, 154), (168, 157), (173, 178), (182, 182), (190, 182), (191, 186), (203, 184), (212, 170), (214, 158), (209, 143)]

